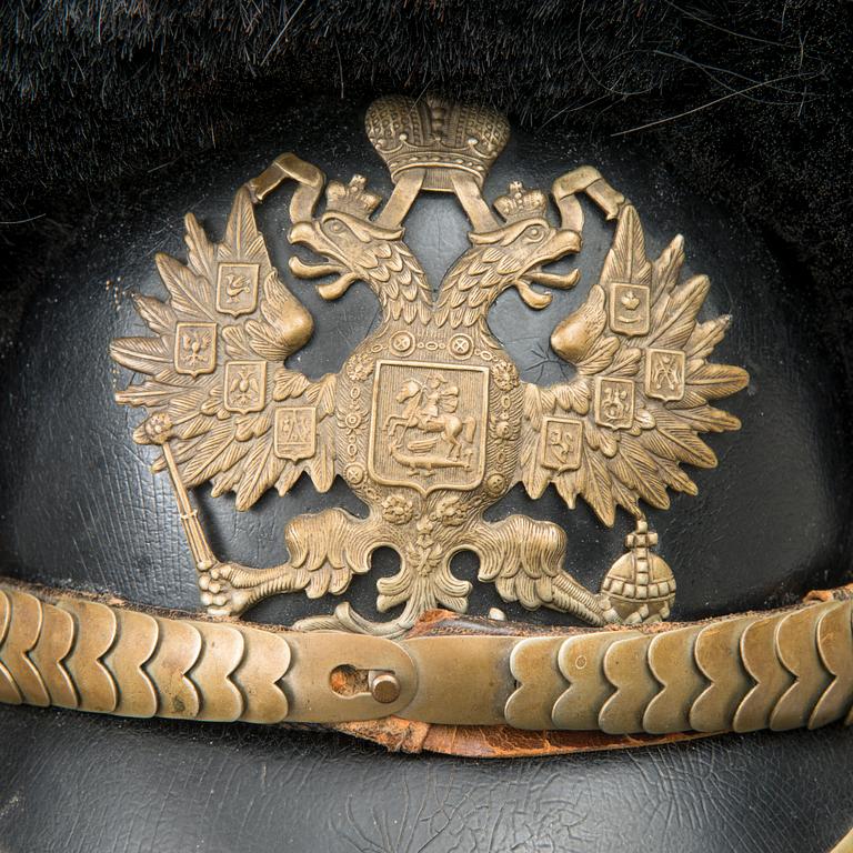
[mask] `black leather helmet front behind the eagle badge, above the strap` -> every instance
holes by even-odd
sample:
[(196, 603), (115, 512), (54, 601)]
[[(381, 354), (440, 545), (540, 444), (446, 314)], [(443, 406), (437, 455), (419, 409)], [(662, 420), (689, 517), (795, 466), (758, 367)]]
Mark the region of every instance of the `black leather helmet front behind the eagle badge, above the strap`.
[[(287, 121), (252, 134), (239, 150), (175, 163), (142, 183), (116, 188), (90, 220), (77, 223), (73, 248), (52, 259), (19, 345), (2, 365), (9, 405), (0, 413), (0, 489), (7, 501), (0, 514), (0, 570), (148, 604), (198, 606), (169, 483), (150, 473), (152, 450), (130, 438), (142, 412), (112, 401), (130, 373), (110, 362), (108, 347), (117, 335), (147, 332), (129, 294), (164, 295), (154, 254), (185, 258), (183, 214), (192, 211), (209, 232), (221, 235), (237, 189), (287, 150), (317, 162), (330, 177), (348, 180), (361, 171), (371, 188), (385, 195), (390, 191), (359, 109), (332, 116), (322, 104), (293, 109)], [(548, 189), (560, 174), (590, 160), (638, 205), (650, 252), (684, 234), (683, 274), (711, 277), (701, 317), (734, 315), (713, 358), (751, 373), (750, 388), (723, 402), (743, 429), (708, 438), (719, 469), (690, 471), (699, 496), (673, 494), (669, 511), (649, 513), (661, 536), (660, 552), (679, 579), (673, 618), (786, 604), (812, 588), (841, 583), (851, 554), (845, 522), (852, 514), (846, 488), (852, 454), (840, 438), (845, 411), (839, 397), (846, 385), (833, 360), (833, 351), (845, 343), (826, 337), (825, 303), (810, 293), (807, 279), (781, 268), (734, 213), (679, 191), (663, 168), (644, 162), (642, 150), (629, 145), (591, 151), (584, 140), (515, 131), (492, 170), (486, 197), (493, 199), (516, 178)], [(273, 262), (315, 320), (314, 338), (289, 364), (318, 378), (340, 368), (374, 322), (377, 303), (363, 285), (324, 302), (310, 282), (290, 275), (287, 200), (287, 192), (271, 197), (259, 208), (259, 222)], [(549, 335), (598, 278), (613, 233), (598, 210), (586, 205), (586, 211), (585, 245), (576, 258), (581, 283), (556, 292), (542, 312), (526, 308), (514, 292), (505, 293), (490, 314), (493, 331), (526, 380), (549, 383), (569, 370), (549, 349)], [(465, 218), (452, 197), (425, 193), (407, 229), (436, 285), (465, 248)], [(202, 489), (199, 496), (214, 550), (250, 565), (285, 559), (281, 531), (299, 512), (330, 505), (363, 511), (341, 481), (330, 493), (318, 494), (307, 478), (284, 498), (268, 493), (245, 513), (233, 510), (232, 495), (214, 501)], [(489, 516), (512, 511), (563, 524), (568, 568), (593, 589), (623, 553), (632, 526), (620, 513), (609, 530), (583, 502), (570, 512), (553, 489), (534, 502), (516, 486)], [(46, 529), (50, 536), (41, 534)], [(379, 615), (373, 610), (377, 574), (394, 571), (389, 554), (382, 556), (377, 570), (357, 578), (348, 593), (373, 618)], [(454, 569), (474, 580), (473, 560), (459, 558)], [(491, 586), (475, 586), (472, 613), (502, 605)], [(254, 616), (291, 622), (331, 611), (333, 604), (283, 596), (261, 605)], [(511, 618), (561, 621), (559, 614), (529, 614), (519, 605), (506, 610)]]

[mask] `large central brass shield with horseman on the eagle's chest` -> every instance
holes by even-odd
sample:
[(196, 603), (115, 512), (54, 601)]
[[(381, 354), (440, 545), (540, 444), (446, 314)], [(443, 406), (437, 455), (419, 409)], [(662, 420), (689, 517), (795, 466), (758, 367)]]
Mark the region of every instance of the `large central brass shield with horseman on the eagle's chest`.
[(379, 361), (368, 466), (385, 485), (428, 494), (475, 489), (485, 473), (489, 370)]

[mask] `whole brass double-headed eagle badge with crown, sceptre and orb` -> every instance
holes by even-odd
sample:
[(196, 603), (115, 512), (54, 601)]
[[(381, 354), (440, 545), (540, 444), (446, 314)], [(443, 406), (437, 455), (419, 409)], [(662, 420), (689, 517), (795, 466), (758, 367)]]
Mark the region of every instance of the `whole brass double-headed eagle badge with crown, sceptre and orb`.
[[(483, 183), (509, 126), (489, 109), (383, 98), (365, 124), (394, 184), (384, 205), (360, 175), (327, 183), (282, 154), (238, 191), (222, 242), (188, 214), (187, 261), (157, 258), (169, 299), (136, 298), (153, 337), (112, 344), (118, 363), (147, 374), (117, 400), (149, 410), (133, 436), (162, 449), (154, 470), (172, 479), (208, 612), (237, 615), (283, 592), (340, 595), (370, 571), (375, 549), (390, 546), (400, 570), (379, 581), (378, 608), (404, 605), (397, 620), (370, 622), (344, 604), (300, 625), (389, 636), (433, 608), (464, 612), (470, 584), (451, 572), (463, 550), (504, 601), (594, 625), (665, 619), (675, 581), (652, 551), (641, 501), (665, 509), (669, 489), (695, 494), (681, 465), (716, 464), (700, 434), (740, 423), (712, 402), (749, 380), (709, 361), (730, 318), (698, 321), (708, 278), (681, 281), (681, 237), (646, 257), (636, 210), (593, 168), (559, 177), (551, 199), (515, 182), (490, 204)], [(313, 322), (270, 262), (254, 217), (283, 183), (293, 190), (288, 239), (318, 258), (291, 258), (290, 273), (323, 279), (318, 290), (329, 300), (363, 282), (382, 311), (342, 370), (317, 381), (287, 367)], [(454, 193), (472, 227), (435, 297), (404, 241), (422, 191)], [(581, 250), (579, 193), (615, 220), (613, 243), (598, 283), (551, 335), (573, 378), (531, 384), (490, 331), (489, 309), (508, 288), (542, 309), (550, 295), (538, 287), (575, 285), (576, 273), (545, 267)], [(329, 509), (294, 518), (284, 530), (289, 560), (274, 568), (217, 559), (188, 489), (210, 482), (214, 496), (234, 492), (237, 509), (249, 510), (303, 473), (321, 492), (342, 478), (367, 516)], [(559, 525), (483, 518), (516, 483), (532, 498), (553, 484), (569, 508), (581, 498), (608, 525), (618, 506), (634, 518), (600, 592), (565, 571)]]

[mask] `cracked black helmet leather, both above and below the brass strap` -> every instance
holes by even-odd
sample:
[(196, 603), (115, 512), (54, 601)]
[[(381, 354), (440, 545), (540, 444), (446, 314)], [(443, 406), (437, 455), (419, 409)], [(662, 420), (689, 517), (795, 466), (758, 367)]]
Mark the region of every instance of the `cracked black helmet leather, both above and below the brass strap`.
[[(294, 118), (295, 117), (295, 118)], [(133, 445), (138, 412), (112, 393), (128, 381), (109, 340), (141, 333), (129, 292), (162, 295), (157, 251), (183, 257), (182, 215), (193, 211), (220, 235), (231, 198), (284, 150), (330, 177), (389, 180), (363, 138), (359, 110), (289, 111), (239, 150), (169, 164), (98, 200), (61, 259), (43, 263), (40, 292), (18, 345), (0, 365), (0, 571), (51, 585), (111, 592), (141, 603), (198, 606), (194, 573), (168, 483)], [(850, 398), (825, 333), (826, 308), (802, 269), (775, 258), (732, 211), (675, 188), (665, 169), (629, 145), (591, 151), (584, 139), (516, 133), (486, 184), (494, 198), (512, 178), (548, 188), (593, 161), (638, 205), (650, 245), (685, 237), (688, 272), (711, 275), (708, 315), (734, 314), (715, 360), (750, 370), (750, 389), (724, 408), (742, 431), (711, 436), (715, 471), (691, 471), (698, 498), (652, 512), (661, 553), (679, 580), (673, 616), (694, 619), (790, 603), (812, 588), (850, 580)], [(287, 272), (287, 197), (259, 212), (273, 261), (309, 305), (314, 340), (291, 364), (311, 377), (337, 370), (375, 318), (373, 298), (353, 288), (325, 303)], [(583, 279), (542, 313), (503, 297), (492, 328), (524, 379), (554, 381), (548, 351), (558, 320), (594, 280), (612, 225), (588, 210)], [(464, 249), (465, 221), (452, 199), (430, 195), (408, 221), (408, 238), (436, 277)], [(359, 503), (340, 483), (318, 495), (302, 480), (285, 498), (267, 495), (249, 513), (231, 498), (200, 495), (221, 556), (278, 562), (284, 522), (298, 512)], [(598, 589), (622, 552), (630, 522), (603, 529), (585, 506), (568, 512), (553, 491), (539, 502), (515, 490), (510, 511), (566, 526), (569, 568)], [(384, 554), (348, 598), (375, 616)], [(473, 580), (464, 559), (456, 573)], [(281, 596), (251, 618), (291, 622), (331, 611), (337, 600)], [(503, 605), (479, 586), (471, 612), (504, 606), (511, 618), (568, 621)], [(840, 727), (784, 735), (723, 736), (666, 747), (555, 759), (483, 762), (401, 756), (328, 733), (242, 725), (98, 719), (0, 708), (0, 851), (812, 851), (829, 849), (853, 823), (847, 769), (853, 737)]]

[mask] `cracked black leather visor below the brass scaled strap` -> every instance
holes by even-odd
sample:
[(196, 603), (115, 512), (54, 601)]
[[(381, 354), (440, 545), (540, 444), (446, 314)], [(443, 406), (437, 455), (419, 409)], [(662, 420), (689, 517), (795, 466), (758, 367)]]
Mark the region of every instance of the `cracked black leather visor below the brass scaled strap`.
[(472, 761), (1, 708), (0, 754), (3, 853), (813, 853), (853, 814), (840, 727)]

